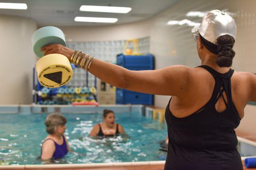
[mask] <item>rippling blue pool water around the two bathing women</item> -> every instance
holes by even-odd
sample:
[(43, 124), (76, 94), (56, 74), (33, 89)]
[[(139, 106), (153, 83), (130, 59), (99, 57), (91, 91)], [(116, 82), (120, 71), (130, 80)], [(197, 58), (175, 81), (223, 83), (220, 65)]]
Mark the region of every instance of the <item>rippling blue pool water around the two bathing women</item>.
[[(126, 161), (159, 161), (166, 153), (159, 150), (159, 141), (167, 135), (166, 124), (160, 124), (140, 113), (116, 113), (128, 136), (111, 139), (88, 137), (93, 125), (102, 121), (102, 114), (64, 114), (70, 147), (58, 163), (99, 163)], [(41, 143), (47, 136), (44, 120), (47, 114), (0, 115), (0, 165), (42, 164)]]

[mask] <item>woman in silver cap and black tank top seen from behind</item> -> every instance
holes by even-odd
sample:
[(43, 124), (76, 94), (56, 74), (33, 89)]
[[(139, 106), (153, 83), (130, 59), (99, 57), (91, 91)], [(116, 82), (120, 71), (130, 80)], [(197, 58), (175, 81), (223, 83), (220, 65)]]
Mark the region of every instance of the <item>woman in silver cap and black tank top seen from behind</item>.
[[(230, 69), (236, 38), (236, 23), (230, 15), (213, 10), (192, 31), (200, 67), (131, 71), (93, 58), (90, 70), (84, 69), (122, 89), (172, 96), (165, 115), (169, 135), (165, 170), (242, 170), (234, 129), (247, 102), (256, 101), (256, 75)], [(78, 52), (60, 44), (42, 50), (69, 60)], [(101, 128), (106, 135), (105, 126)], [(93, 129), (90, 135), (97, 135), (100, 127), (97, 124)]]

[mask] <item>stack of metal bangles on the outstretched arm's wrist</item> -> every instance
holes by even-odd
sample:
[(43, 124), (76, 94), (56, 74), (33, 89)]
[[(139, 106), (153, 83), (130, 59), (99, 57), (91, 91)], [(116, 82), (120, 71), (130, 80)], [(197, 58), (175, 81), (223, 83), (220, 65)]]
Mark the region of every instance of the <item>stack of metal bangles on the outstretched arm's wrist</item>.
[[(76, 50), (72, 55), (71, 55), (71, 62), (73, 64), (75, 64), (76, 66), (79, 66), (81, 68), (84, 68), (85, 70), (89, 70), (90, 69), (90, 65), (92, 64), (92, 62), (95, 60), (94, 57), (82, 53), (79, 50)], [(79, 61), (81, 60), (80, 64)], [(85, 64), (85, 66), (84, 66)]]

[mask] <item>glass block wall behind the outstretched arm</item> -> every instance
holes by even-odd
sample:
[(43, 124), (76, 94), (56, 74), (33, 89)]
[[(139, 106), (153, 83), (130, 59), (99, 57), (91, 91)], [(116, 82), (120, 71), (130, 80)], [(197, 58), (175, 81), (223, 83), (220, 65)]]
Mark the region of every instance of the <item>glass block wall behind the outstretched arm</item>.
[[(123, 52), (126, 40), (95, 41), (95, 42), (67, 42), (67, 47), (88, 53), (102, 61), (116, 63), (116, 55)], [(133, 43), (128, 44), (133, 49)], [(139, 39), (139, 49), (142, 54), (149, 53), (150, 37)], [(73, 69), (73, 78), (67, 86), (96, 86), (96, 78), (81, 68)]]

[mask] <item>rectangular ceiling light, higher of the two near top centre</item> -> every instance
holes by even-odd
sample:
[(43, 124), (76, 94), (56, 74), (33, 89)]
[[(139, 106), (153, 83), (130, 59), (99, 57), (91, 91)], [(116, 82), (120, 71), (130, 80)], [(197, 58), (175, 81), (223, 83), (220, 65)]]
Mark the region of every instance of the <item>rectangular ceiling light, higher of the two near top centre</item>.
[(109, 12), (109, 13), (123, 13), (126, 14), (131, 11), (128, 7), (116, 7), (116, 6), (87, 6), (82, 5), (80, 11), (88, 12)]

